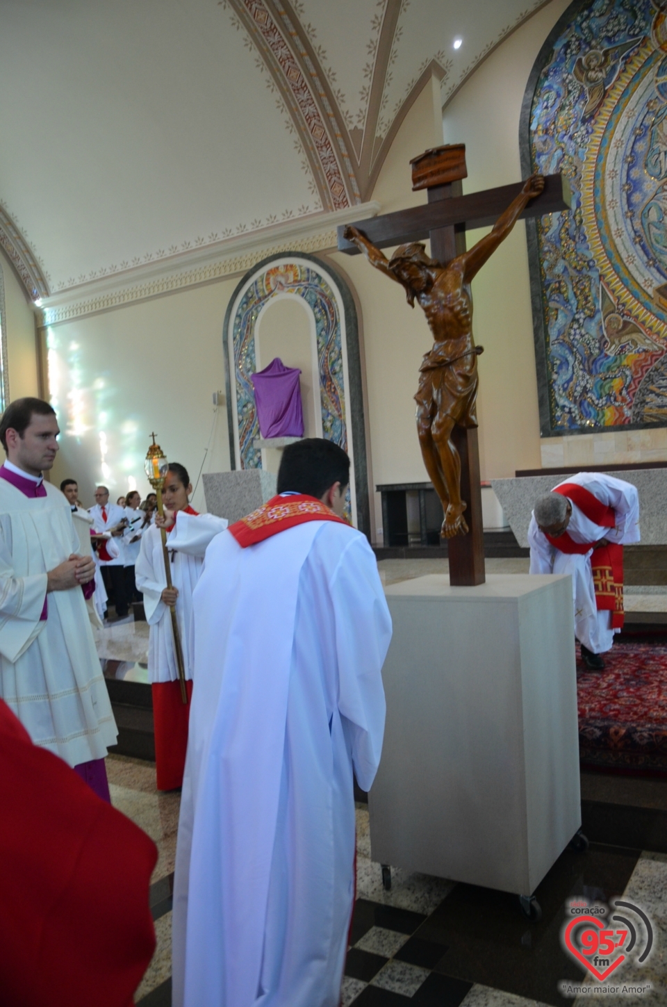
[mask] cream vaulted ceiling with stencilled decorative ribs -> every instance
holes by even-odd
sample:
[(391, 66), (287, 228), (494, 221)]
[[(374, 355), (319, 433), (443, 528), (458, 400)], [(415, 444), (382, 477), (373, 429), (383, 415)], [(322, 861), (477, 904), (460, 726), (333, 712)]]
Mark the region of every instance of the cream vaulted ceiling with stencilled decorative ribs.
[(36, 298), (367, 200), (543, 3), (0, 0), (0, 243)]

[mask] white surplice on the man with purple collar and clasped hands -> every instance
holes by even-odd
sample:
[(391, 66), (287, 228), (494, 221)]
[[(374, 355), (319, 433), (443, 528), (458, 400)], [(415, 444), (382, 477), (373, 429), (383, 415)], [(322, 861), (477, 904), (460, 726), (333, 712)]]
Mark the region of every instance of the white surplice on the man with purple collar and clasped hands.
[(0, 479), (0, 698), (33, 742), (69, 765), (104, 758), (118, 731), (79, 586), (47, 596), (46, 574), (78, 553), (69, 503)]

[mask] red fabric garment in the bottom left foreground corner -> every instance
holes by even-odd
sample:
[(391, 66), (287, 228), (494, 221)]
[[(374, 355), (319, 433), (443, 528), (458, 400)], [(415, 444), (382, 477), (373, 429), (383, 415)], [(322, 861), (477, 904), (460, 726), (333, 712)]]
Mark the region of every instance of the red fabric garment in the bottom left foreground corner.
[(129, 1007), (155, 949), (155, 844), (1, 701), (0, 808), (0, 1002)]

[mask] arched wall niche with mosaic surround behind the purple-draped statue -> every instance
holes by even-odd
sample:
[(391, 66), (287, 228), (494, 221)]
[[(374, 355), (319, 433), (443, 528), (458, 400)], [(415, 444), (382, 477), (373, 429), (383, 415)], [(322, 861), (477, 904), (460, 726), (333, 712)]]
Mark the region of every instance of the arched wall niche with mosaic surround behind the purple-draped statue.
[[(281, 356), (286, 366), (301, 368), (304, 386), (310, 383), (303, 400), (304, 413), (313, 412), (314, 435), (334, 441), (350, 456), (350, 518), (370, 537), (359, 329), (345, 280), (315, 256), (270, 256), (234, 290), (223, 347), (231, 467), (263, 467), (251, 375)], [(294, 356), (286, 358), (292, 350)]]

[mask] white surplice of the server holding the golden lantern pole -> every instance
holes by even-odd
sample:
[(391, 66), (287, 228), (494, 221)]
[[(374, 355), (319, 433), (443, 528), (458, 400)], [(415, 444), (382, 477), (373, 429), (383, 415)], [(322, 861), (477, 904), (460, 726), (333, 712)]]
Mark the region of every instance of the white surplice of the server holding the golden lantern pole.
[[(186, 679), (192, 678), (189, 630), (192, 620), (192, 592), (203, 566), (203, 556), (211, 539), (227, 527), (224, 518), (212, 514), (191, 515), (177, 512), (176, 528), (167, 536), (171, 581), (178, 588), (176, 617)], [(181, 538), (177, 536), (180, 534)], [(135, 564), (137, 590), (144, 595), (144, 611), (150, 626), (148, 639), (148, 677), (151, 682), (175, 682), (178, 665), (174, 652), (171, 612), (162, 600), (167, 586), (160, 529), (144, 529), (141, 549)]]

